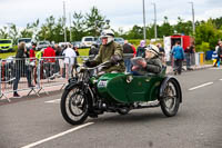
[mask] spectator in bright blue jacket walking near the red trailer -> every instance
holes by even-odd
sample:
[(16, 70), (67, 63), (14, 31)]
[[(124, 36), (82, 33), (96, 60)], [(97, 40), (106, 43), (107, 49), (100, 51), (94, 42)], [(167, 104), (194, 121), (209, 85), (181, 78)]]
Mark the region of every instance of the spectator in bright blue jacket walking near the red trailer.
[(173, 55), (174, 65), (175, 65), (174, 75), (176, 73), (181, 75), (182, 62), (184, 60), (184, 51), (183, 51), (183, 48), (180, 46), (180, 41), (175, 42), (175, 46), (172, 49), (172, 55)]

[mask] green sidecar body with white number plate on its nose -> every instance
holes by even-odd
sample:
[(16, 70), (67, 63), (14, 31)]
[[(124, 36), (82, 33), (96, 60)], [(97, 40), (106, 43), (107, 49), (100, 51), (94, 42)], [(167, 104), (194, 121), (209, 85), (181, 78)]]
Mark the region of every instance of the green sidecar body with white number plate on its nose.
[(98, 91), (104, 99), (131, 103), (158, 99), (165, 71), (160, 75), (132, 76), (131, 73), (105, 73), (98, 80)]

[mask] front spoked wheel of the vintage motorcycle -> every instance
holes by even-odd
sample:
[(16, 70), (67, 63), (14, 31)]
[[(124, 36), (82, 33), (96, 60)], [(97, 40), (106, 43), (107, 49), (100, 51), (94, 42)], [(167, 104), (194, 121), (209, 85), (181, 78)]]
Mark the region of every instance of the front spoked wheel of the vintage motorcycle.
[(82, 124), (88, 118), (89, 102), (80, 86), (64, 90), (60, 108), (64, 120), (71, 125)]

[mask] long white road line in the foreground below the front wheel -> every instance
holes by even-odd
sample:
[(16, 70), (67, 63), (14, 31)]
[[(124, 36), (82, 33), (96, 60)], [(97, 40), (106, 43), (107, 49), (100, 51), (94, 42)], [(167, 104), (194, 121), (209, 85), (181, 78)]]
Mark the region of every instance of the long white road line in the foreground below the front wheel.
[(67, 134), (70, 134), (70, 132), (72, 132), (72, 131), (75, 131), (75, 130), (78, 130), (78, 129), (84, 128), (84, 127), (90, 126), (90, 125), (92, 125), (92, 124), (94, 124), (94, 122), (88, 122), (88, 124), (78, 126), (78, 127), (75, 127), (75, 128), (69, 129), (69, 130), (67, 130), (67, 131), (60, 132), (60, 134), (54, 135), (54, 136), (51, 136), (51, 137), (49, 137), (49, 138), (46, 138), (46, 139), (42, 139), (42, 140), (39, 140), (39, 141), (36, 141), (36, 142), (29, 144), (29, 145), (23, 146), (23, 147), (21, 147), (21, 148), (32, 148), (32, 147), (36, 147), (36, 146), (38, 146), (38, 145), (40, 145), (40, 144), (43, 144), (43, 142), (46, 142), (46, 141), (49, 141), (49, 140), (59, 138), (59, 137), (61, 137), (61, 136), (64, 136), (64, 135), (67, 135)]

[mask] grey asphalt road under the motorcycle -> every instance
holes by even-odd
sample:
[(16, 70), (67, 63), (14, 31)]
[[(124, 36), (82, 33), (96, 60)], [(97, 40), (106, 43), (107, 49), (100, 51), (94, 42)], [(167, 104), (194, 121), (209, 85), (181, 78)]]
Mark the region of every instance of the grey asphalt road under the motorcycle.
[(183, 102), (172, 118), (150, 108), (70, 126), (60, 112), (61, 93), (12, 100), (0, 106), (0, 148), (222, 148), (222, 69), (176, 78)]

